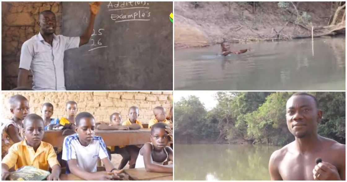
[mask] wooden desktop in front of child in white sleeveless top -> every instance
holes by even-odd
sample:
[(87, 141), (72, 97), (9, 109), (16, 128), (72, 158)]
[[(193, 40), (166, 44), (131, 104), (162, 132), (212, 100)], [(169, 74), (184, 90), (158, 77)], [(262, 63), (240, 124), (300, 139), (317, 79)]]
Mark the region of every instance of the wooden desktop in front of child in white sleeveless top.
[(171, 180), (172, 173), (154, 173), (147, 172), (145, 168), (125, 169), (129, 175), (129, 180)]

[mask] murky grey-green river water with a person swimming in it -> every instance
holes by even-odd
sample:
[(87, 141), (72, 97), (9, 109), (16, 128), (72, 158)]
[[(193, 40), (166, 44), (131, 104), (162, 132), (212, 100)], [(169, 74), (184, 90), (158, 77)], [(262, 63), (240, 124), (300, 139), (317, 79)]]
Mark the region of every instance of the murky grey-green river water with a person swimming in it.
[(175, 90), (345, 90), (345, 36), (175, 50)]

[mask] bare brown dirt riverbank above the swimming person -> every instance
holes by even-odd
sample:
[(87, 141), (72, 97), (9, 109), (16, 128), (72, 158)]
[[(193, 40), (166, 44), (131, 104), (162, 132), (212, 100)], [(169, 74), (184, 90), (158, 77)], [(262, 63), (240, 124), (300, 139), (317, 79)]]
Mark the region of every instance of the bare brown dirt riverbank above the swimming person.
[[(331, 2), (301, 2), (298, 10), (311, 16), (313, 26), (328, 25), (333, 15)], [(281, 29), (283, 35), (311, 35), (311, 31), (288, 22), (290, 15), (278, 2), (257, 2), (254, 12), (250, 2), (175, 2), (175, 48), (219, 44), (223, 38), (262, 39)], [(290, 19), (295, 20), (296, 15)]]

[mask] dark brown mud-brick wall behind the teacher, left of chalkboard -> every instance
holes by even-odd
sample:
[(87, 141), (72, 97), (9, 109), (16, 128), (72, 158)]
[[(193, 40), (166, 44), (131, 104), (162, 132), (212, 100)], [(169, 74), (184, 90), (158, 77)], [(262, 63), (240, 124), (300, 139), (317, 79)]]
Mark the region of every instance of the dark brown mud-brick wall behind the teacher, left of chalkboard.
[(20, 49), (26, 40), (39, 33), (39, 12), (48, 9), (56, 14), (56, 34), (61, 34), (61, 2), (1, 2), (2, 90), (17, 87)]

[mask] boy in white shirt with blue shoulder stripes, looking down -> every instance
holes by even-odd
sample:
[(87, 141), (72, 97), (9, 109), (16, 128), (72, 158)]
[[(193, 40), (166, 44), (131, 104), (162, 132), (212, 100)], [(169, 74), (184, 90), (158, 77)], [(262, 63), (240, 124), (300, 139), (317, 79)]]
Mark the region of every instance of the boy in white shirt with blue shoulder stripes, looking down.
[[(100, 136), (95, 136), (95, 120), (92, 114), (81, 112), (76, 116), (76, 133), (65, 137), (62, 159), (67, 161), (67, 173), (84, 180), (119, 180), (117, 170), (108, 158), (106, 145)], [(96, 172), (98, 159), (106, 171)]]

